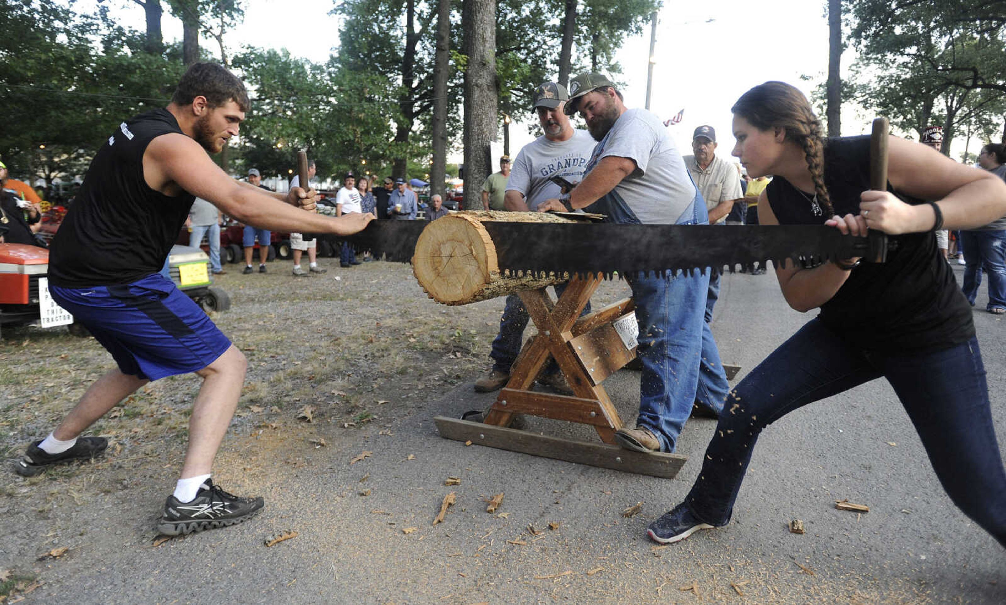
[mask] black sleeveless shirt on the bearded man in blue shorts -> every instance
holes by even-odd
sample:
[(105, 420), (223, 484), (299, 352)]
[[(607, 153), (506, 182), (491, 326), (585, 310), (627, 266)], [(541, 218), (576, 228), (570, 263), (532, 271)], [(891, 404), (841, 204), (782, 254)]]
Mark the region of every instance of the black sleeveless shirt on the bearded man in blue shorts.
[(122, 123), (98, 151), (49, 250), (49, 279), (62, 287), (130, 283), (156, 273), (195, 197), (168, 197), (143, 177), (154, 138), (182, 134), (167, 110)]

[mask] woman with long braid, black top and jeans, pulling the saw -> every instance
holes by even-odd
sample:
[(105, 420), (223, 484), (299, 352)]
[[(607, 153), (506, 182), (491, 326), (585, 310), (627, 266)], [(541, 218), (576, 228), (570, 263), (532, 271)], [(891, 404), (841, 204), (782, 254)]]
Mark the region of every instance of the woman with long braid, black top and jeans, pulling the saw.
[(795, 87), (766, 82), (731, 111), (733, 155), (752, 177), (776, 177), (759, 199), (762, 224), (823, 223), (853, 235), (876, 229), (897, 248), (884, 263), (846, 258), (776, 267), (790, 306), (820, 308), (820, 315), (727, 397), (691, 491), (650, 524), (650, 538), (672, 543), (725, 526), (763, 428), (883, 377), (954, 503), (1006, 546), (1006, 471), (972, 312), (934, 236), (944, 226), (971, 229), (1006, 214), (1006, 184), (891, 138), (887, 190), (871, 191), (869, 137), (826, 141)]

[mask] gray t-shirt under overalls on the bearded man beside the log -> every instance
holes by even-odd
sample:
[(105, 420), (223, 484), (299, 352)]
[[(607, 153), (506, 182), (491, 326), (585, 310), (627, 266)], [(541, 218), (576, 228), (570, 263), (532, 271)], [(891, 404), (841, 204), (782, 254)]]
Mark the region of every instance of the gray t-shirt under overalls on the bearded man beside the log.
[(646, 110), (629, 110), (598, 144), (588, 163), (608, 156), (636, 162), (636, 171), (622, 179), (614, 192), (640, 222), (674, 224), (695, 199), (695, 185), (677, 145), (660, 120)]

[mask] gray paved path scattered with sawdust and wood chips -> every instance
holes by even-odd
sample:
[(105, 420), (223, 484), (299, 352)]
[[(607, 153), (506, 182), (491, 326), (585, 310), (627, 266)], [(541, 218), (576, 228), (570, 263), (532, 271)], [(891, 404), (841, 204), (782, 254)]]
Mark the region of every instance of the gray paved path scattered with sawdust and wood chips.
[[(979, 309), (984, 295), (983, 289)], [(810, 317), (786, 307), (771, 274), (727, 275), (714, 333), (723, 360), (743, 367), (742, 378)], [(996, 428), (1006, 445), (1006, 325), (983, 311), (975, 321)], [(638, 374), (620, 372), (605, 386), (631, 421)], [(52, 562), (29, 598), (1006, 602), (1006, 551), (951, 503), (884, 382), (799, 410), (767, 429), (730, 526), (669, 547), (656, 547), (644, 530), (687, 492), (712, 421), (692, 420), (685, 428), (679, 452), (690, 459), (674, 480), (466, 447), (438, 436), (435, 415), (460, 415), (492, 398), (462, 385), (408, 417), (362, 431), (323, 428), (329, 446), (318, 449), (301, 442), (266, 445), (254, 434), (228, 437), (223, 463), (244, 464), (245, 484), (263, 490), (269, 502), (259, 519), (236, 528), (155, 548), (153, 519), (117, 519), (116, 494), (87, 511), (51, 512), (74, 516), (92, 532), (112, 532), (117, 539), (82, 539), (78, 555)], [(579, 427), (538, 419), (532, 419), (532, 429), (593, 438)], [(372, 455), (350, 465), (364, 450)], [(460, 477), (461, 484), (445, 486), (449, 476)], [(451, 491), (457, 503), (443, 524), (432, 526)], [(501, 492), (502, 506), (487, 514), (484, 500)], [(146, 510), (158, 511), (160, 497), (151, 490)], [(868, 505), (870, 512), (836, 511), (835, 500), (843, 498)], [(637, 502), (643, 502), (642, 512), (623, 518), (621, 512)], [(787, 531), (793, 519), (803, 520), (805, 535)], [(299, 536), (263, 546), (267, 535), (284, 529)], [(43, 537), (39, 544), (45, 544)]]

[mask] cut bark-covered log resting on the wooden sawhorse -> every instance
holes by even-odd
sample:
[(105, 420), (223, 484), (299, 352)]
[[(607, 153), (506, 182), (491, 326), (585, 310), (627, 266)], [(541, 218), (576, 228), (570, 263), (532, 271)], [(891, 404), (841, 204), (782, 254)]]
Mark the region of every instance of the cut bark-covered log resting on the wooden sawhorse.
[(495, 210), (455, 212), (435, 220), (423, 230), (412, 256), (412, 272), (431, 298), (468, 305), (569, 280), (568, 273), (545, 278), (504, 275), (496, 246), (482, 225), (489, 221), (576, 222), (542, 212)]

